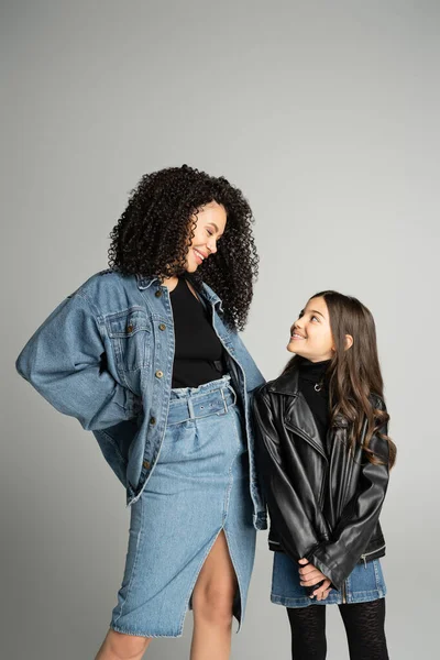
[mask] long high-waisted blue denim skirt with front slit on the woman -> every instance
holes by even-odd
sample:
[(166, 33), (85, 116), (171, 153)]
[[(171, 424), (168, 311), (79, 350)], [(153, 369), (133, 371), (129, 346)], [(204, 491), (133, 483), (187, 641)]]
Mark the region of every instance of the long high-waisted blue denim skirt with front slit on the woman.
[(255, 554), (249, 457), (230, 376), (172, 389), (158, 461), (131, 506), (129, 549), (110, 627), (179, 637), (197, 578), (223, 530), (243, 619)]

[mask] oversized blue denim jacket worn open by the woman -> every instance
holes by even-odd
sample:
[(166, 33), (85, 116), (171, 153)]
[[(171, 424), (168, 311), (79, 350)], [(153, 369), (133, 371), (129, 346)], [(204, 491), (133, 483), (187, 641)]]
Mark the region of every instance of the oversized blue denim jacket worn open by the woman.
[[(255, 473), (250, 395), (264, 378), (237, 332), (221, 319), (220, 298), (204, 285), (212, 326), (227, 352), (248, 436), (254, 526), (266, 528)], [(68, 296), (16, 360), (18, 372), (57, 410), (91, 430), (135, 502), (158, 459), (174, 362), (169, 293), (156, 278), (103, 271)]]

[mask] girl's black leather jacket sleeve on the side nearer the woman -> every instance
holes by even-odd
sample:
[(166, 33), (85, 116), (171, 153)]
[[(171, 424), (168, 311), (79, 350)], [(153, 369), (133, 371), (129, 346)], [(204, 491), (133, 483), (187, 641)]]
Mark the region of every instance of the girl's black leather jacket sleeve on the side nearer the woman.
[(263, 477), (271, 522), (284, 552), (298, 561), (319, 544), (322, 536), (328, 538), (327, 524), (323, 518), (320, 520), (322, 534), (319, 534), (317, 521), (307, 516), (300, 494), (289, 479), (276, 420), (270, 399), (262, 389), (254, 395), (253, 411), (255, 455), (258, 472)]

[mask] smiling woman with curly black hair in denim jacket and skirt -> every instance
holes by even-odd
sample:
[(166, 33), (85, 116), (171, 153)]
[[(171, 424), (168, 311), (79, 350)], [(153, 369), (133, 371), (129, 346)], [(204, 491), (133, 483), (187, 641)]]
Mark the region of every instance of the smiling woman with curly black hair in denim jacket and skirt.
[(237, 332), (257, 271), (252, 221), (224, 178), (186, 165), (143, 176), (111, 233), (110, 270), (18, 359), (94, 431), (127, 488), (125, 572), (99, 660), (135, 660), (152, 637), (180, 636), (190, 605), (191, 659), (224, 660), (232, 615), (243, 618), (265, 528), (249, 402), (263, 377)]

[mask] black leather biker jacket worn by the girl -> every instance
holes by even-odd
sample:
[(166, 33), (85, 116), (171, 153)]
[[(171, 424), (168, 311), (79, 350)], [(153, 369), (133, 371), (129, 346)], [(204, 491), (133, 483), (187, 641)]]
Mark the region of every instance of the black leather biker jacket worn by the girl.
[[(322, 444), (293, 371), (254, 393), (256, 461), (271, 516), (270, 548), (305, 557), (340, 588), (358, 562), (385, 554), (378, 522), (388, 485), (388, 443), (373, 436), (369, 462), (346, 448), (348, 421), (338, 420)], [(376, 408), (385, 409), (378, 397)], [(386, 425), (381, 428), (387, 432)]]

